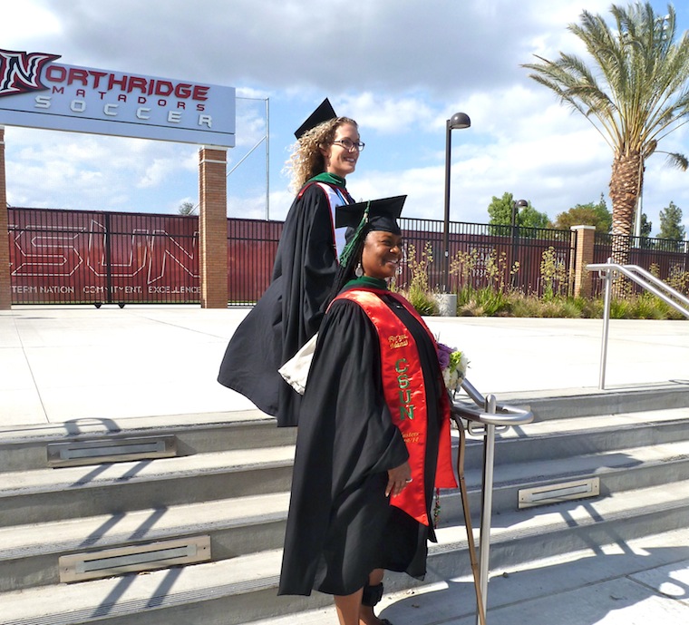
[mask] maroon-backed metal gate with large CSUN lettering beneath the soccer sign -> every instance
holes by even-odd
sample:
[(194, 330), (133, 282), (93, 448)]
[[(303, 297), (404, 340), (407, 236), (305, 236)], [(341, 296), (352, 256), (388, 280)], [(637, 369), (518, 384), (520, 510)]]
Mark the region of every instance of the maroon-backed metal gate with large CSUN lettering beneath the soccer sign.
[(13, 304), (199, 302), (198, 220), (9, 209)]

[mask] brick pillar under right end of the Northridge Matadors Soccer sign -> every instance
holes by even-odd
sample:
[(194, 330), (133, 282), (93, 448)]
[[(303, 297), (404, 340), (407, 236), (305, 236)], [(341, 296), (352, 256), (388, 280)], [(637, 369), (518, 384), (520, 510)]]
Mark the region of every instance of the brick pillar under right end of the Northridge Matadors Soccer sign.
[(201, 308), (228, 308), (227, 165), (227, 150), (199, 150)]

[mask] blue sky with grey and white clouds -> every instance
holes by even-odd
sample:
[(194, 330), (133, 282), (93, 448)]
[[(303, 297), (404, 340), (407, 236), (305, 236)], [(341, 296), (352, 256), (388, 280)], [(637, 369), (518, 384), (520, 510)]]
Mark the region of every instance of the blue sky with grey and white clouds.
[[(466, 112), (471, 128), (452, 133), (451, 220), (487, 221), (491, 198), (505, 191), (554, 219), (607, 198), (612, 153), (519, 65), (533, 54), (581, 54), (567, 24), (583, 8), (608, 15), (610, 4), (262, 0), (257, 11), (256, 0), (0, 0), (0, 48), (236, 87), (228, 171), (246, 160), (228, 176), (230, 217), (285, 217), (292, 132), (328, 96), (366, 143), (348, 179), (356, 199), (405, 193), (406, 216), (442, 219), (445, 120)], [(667, 3), (652, 4), (665, 15)], [(689, 8), (675, 9), (684, 32)], [(680, 129), (660, 149), (689, 154), (688, 143)], [(13, 206), (175, 213), (198, 201), (195, 146), (7, 127), (5, 158)], [(689, 172), (655, 155), (644, 193), (654, 232), (671, 200), (689, 225)]]

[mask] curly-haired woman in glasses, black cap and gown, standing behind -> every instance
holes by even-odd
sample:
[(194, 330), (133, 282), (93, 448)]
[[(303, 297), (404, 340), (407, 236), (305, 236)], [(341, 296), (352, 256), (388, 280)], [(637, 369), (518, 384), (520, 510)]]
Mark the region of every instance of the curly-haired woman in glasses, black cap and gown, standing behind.
[(356, 122), (337, 117), (327, 99), (295, 134), (292, 186), (298, 192), (277, 246), (271, 283), (230, 339), (218, 374), (220, 384), (276, 416), (278, 426), (296, 425), (301, 397), (277, 369), (320, 326), (337, 273), (338, 242), (344, 247), (345, 230), (335, 232), (335, 209), (353, 201), (345, 178), (364, 148)]

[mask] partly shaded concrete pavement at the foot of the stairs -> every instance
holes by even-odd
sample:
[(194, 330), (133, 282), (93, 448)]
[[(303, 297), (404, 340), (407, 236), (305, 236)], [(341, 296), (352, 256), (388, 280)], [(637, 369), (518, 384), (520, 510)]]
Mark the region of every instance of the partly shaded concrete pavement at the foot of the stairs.
[[(613, 538), (562, 556), (494, 569), (487, 620), (491, 625), (581, 625), (627, 624), (636, 617), (637, 622), (679, 625), (686, 622), (685, 584), (679, 582), (687, 571), (685, 545), (689, 545), (689, 529), (627, 542)], [(660, 581), (655, 581), (656, 576)], [(632, 587), (633, 581), (638, 586)], [(661, 602), (667, 610), (658, 610)], [(394, 625), (476, 625), (475, 606), (471, 577), (465, 576), (397, 592), (386, 589), (377, 613)], [(252, 621), (252, 625), (296, 622), (336, 625), (335, 607), (331, 602), (323, 608)]]

